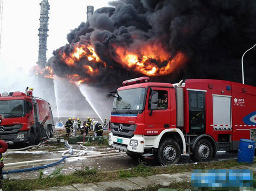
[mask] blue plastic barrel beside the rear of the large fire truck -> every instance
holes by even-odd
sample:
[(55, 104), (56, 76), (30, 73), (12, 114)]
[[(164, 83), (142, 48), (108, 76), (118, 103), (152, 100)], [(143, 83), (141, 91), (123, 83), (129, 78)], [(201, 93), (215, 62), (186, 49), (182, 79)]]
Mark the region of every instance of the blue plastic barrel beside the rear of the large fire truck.
[(237, 153), (238, 162), (252, 163), (254, 157), (255, 142), (249, 139), (240, 139)]

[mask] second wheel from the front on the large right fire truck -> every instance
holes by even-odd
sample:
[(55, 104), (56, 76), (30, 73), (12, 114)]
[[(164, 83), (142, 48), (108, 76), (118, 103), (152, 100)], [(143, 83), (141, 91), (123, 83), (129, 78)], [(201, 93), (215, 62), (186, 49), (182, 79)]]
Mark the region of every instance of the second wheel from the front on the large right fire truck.
[(201, 139), (195, 144), (195, 148), (190, 159), (193, 162), (208, 162), (213, 156), (213, 146), (208, 139)]

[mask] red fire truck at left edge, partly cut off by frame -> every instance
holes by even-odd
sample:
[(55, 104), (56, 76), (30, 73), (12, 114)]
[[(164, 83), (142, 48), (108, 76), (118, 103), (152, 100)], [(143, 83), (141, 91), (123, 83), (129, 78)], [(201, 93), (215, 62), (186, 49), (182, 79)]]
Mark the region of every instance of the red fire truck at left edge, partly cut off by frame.
[[(40, 142), (40, 123), (46, 133), (53, 137), (54, 121), (50, 104), (34, 97), (33, 90), (0, 94), (0, 139), (8, 145), (28, 143), (34, 145)], [(48, 118), (46, 117), (48, 116)]]

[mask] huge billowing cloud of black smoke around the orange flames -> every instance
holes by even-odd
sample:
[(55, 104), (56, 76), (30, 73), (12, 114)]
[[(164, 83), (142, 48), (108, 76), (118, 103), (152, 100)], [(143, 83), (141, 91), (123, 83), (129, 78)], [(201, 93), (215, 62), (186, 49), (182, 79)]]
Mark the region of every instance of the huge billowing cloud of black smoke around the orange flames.
[[(189, 61), (167, 76), (154, 76), (154, 81), (209, 78), (242, 83), (242, 55), (256, 44), (255, 0), (119, 0), (109, 5), (114, 7), (97, 9), (88, 22), (67, 34), (69, 44), (54, 51), (48, 65), (57, 75), (79, 74), (98, 85), (145, 76), (122, 68), (113, 59), (115, 45), (138, 47), (159, 41), (170, 55), (182, 51)], [(70, 67), (61, 62), (58, 52), (69, 52), (70, 44), (78, 42), (93, 44), (107, 66), (81, 60)], [(84, 64), (100, 74), (85, 74)], [(245, 83), (254, 86), (255, 64), (256, 48), (244, 57)]]

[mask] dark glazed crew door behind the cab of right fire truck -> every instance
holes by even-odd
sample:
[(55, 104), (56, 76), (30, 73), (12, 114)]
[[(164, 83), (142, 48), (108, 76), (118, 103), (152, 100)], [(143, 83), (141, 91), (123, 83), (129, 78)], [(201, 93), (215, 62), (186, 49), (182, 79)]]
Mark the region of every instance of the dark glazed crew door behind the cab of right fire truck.
[(205, 92), (189, 91), (189, 131), (205, 132)]

